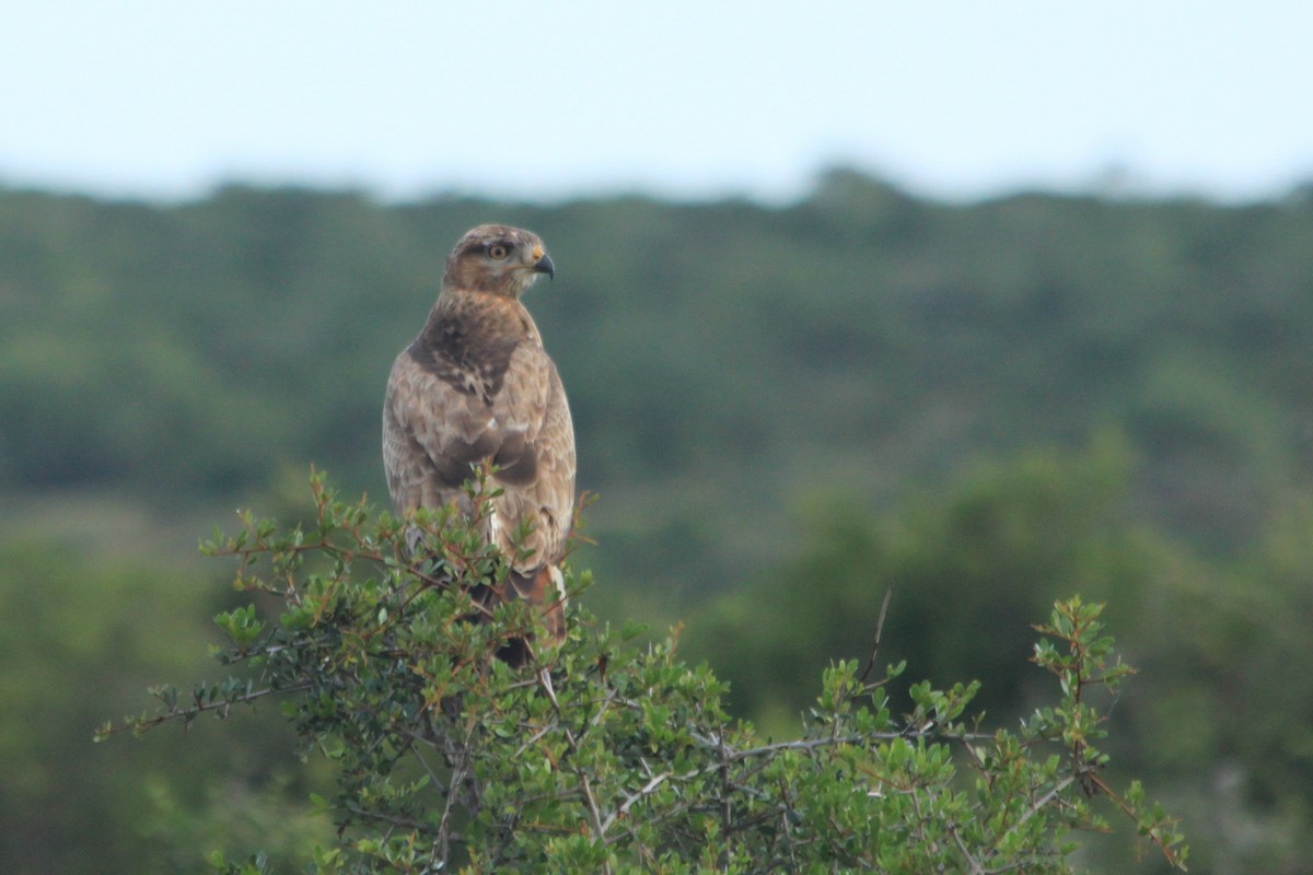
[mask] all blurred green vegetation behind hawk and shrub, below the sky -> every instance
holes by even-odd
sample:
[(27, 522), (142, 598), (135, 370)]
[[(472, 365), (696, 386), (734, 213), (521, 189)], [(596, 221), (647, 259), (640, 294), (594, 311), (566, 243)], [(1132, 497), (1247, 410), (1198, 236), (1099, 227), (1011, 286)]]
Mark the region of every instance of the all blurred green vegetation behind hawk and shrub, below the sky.
[(1108, 600), (1142, 670), (1119, 774), (1196, 870), (1313, 871), (1313, 195), (948, 205), (847, 171), (783, 207), (0, 190), (0, 871), (331, 836), (276, 706), (91, 733), (222, 674), (230, 569), (190, 552), (232, 508), (301, 513), (311, 463), (386, 504), (387, 369), (488, 220), (558, 265), (528, 304), (601, 496), (599, 614), (683, 622), (786, 735), (890, 588), (880, 660), (979, 678), (986, 724), (1032, 701), (1028, 623)]

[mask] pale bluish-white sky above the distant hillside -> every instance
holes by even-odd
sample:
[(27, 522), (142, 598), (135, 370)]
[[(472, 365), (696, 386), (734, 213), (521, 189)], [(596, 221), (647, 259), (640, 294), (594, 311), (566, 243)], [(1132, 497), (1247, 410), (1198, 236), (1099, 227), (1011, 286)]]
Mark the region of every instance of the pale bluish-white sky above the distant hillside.
[(0, 184), (973, 198), (1313, 181), (1313, 3), (11, 4)]

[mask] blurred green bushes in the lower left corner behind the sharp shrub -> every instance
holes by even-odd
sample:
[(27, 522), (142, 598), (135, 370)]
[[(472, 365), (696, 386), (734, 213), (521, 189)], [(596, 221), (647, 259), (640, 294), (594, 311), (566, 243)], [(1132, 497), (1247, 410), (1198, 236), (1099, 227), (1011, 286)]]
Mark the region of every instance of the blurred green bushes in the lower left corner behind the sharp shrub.
[(243, 715), (225, 735), (158, 733), (112, 756), (89, 744), (160, 673), (206, 670), (207, 630), (189, 618), (222, 603), (214, 581), (180, 585), (159, 559), (9, 531), (25, 537), (0, 542), (0, 871), (201, 872), (201, 845), (259, 841), (285, 863), (328, 837), (303, 813), (314, 773), (274, 761), (291, 743), (278, 723)]

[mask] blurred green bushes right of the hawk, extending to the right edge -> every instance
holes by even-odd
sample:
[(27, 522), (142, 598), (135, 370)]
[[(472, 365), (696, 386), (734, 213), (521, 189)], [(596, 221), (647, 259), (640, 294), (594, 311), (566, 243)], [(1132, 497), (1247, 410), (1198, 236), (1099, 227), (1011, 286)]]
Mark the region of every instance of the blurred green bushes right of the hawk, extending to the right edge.
[[(772, 575), (712, 600), (683, 639), (733, 683), (734, 711), (772, 729), (809, 704), (809, 677), (871, 648), (869, 605), (890, 593), (882, 652), (1007, 725), (1046, 697), (1019, 665), (1027, 617), (1079, 589), (1108, 600), (1145, 676), (1116, 701), (1109, 770), (1141, 775), (1191, 824), (1203, 871), (1299, 871), (1313, 858), (1313, 504), (1292, 501), (1236, 563), (1137, 522), (1123, 442), (977, 464), (884, 512), (819, 501)], [(768, 606), (768, 607), (767, 607)], [(898, 689), (898, 681), (894, 682)], [(1132, 865), (1098, 842), (1095, 871)]]

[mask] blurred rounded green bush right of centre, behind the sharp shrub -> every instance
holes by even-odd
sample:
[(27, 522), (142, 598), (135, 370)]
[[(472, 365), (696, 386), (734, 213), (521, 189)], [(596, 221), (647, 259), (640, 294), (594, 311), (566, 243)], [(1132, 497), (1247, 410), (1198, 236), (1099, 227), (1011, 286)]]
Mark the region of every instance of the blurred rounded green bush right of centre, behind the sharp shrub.
[(978, 706), (1020, 716), (1033, 686), (1020, 659), (1028, 623), (1062, 593), (1108, 598), (1134, 628), (1154, 547), (1127, 521), (1130, 468), (1125, 442), (1109, 434), (1085, 451), (979, 463), (952, 488), (882, 514), (818, 496), (800, 513), (798, 552), (710, 601), (688, 647), (733, 680), (742, 712), (790, 719), (806, 706), (809, 677), (867, 652), (867, 606), (892, 592), (892, 652), (940, 683), (981, 680)]

